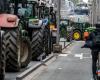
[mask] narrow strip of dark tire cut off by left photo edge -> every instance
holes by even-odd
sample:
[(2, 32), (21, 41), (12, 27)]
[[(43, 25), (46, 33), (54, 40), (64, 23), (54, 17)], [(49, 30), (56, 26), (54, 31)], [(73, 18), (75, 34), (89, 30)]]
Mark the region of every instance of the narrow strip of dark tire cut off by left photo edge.
[(0, 32), (0, 80), (5, 78), (5, 39), (4, 35)]

